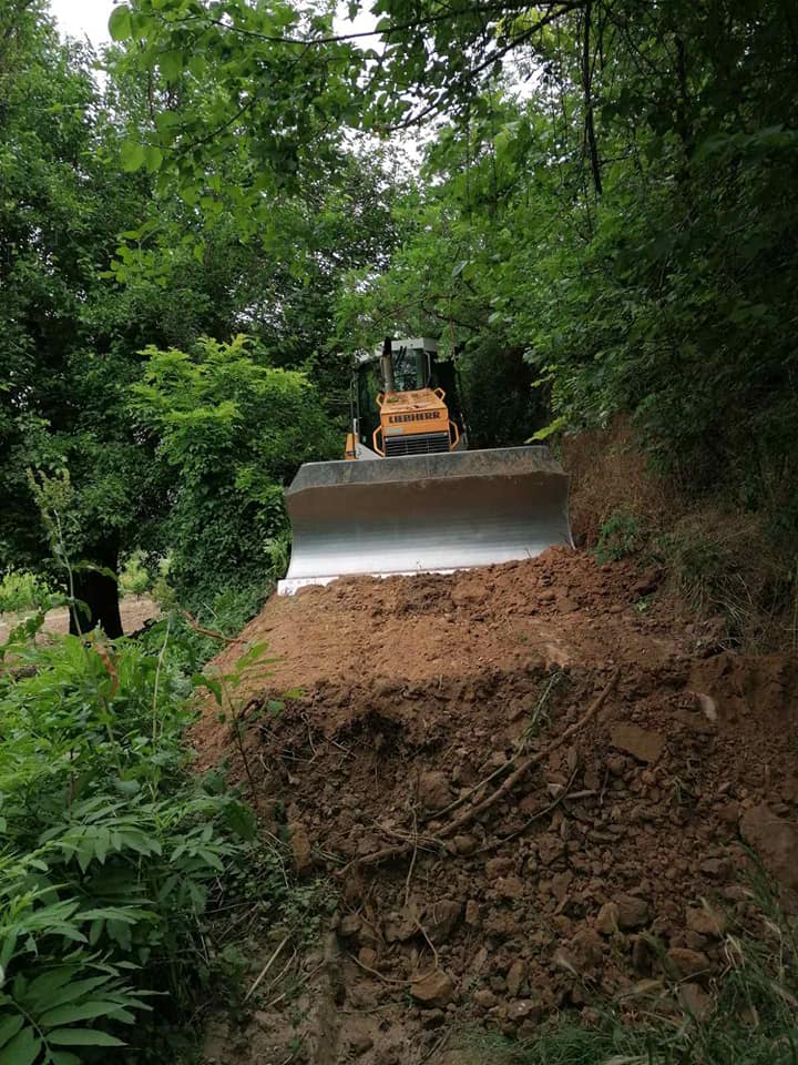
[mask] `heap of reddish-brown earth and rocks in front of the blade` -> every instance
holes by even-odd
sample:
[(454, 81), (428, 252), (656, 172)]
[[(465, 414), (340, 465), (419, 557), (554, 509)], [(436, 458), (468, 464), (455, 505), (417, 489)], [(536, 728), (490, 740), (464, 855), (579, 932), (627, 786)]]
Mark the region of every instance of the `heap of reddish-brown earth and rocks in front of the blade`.
[(200, 760), (231, 759), (340, 904), (294, 963), (304, 1020), (286, 997), (219, 1022), (209, 1061), (489, 1061), (451, 1024), (710, 1007), (726, 929), (756, 920), (743, 840), (798, 910), (798, 662), (722, 651), (659, 581), (553, 549), (267, 604), (217, 660), (277, 659), (234, 698), (245, 759), (208, 708)]

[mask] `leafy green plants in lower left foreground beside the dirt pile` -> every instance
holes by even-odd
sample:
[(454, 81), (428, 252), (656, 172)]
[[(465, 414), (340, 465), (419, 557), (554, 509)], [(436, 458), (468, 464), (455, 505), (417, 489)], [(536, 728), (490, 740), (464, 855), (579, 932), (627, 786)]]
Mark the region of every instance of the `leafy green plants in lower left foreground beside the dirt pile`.
[(252, 816), (188, 771), (191, 686), (168, 633), (157, 653), (12, 640), (0, 649), (0, 1061), (68, 1065), (96, 1046), (112, 1061), (141, 1039), (131, 1026), (152, 992), (173, 1010), (194, 983), (200, 922)]

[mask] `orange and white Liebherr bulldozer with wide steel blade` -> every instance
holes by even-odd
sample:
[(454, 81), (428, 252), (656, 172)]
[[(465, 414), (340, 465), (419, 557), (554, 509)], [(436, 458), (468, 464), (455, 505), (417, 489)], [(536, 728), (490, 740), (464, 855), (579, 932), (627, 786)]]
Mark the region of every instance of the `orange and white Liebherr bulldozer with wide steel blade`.
[(306, 463), (285, 494), (293, 547), (279, 595), (573, 547), (560, 463), (543, 445), (469, 449), (458, 392), (429, 337), (386, 338), (356, 359), (344, 458)]

